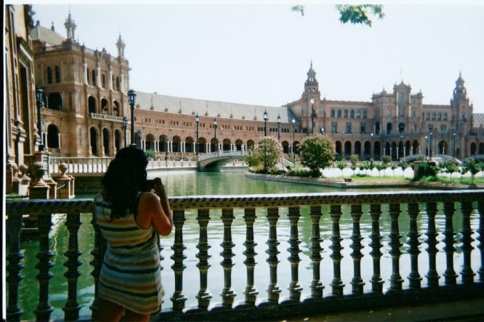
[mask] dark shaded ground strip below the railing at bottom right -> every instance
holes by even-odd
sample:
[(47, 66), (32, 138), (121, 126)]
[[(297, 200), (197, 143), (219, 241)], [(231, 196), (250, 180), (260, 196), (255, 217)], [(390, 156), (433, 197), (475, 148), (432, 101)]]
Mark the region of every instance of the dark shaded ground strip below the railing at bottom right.
[(346, 313), (328, 313), (300, 316), (290, 319), (268, 321), (279, 322), (332, 322), (332, 321), (484, 321), (484, 299), (458, 301), (422, 306), (404, 306), (362, 310)]

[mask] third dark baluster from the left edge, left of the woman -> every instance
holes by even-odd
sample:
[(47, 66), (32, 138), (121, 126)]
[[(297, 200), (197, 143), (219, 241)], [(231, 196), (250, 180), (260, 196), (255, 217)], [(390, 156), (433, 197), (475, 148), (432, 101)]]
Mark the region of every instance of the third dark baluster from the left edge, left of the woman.
[(79, 260), (82, 252), (79, 250), (79, 243), (77, 238), (77, 231), (81, 226), (80, 214), (67, 214), (66, 227), (69, 231), (69, 244), (67, 252), (64, 256), (68, 258), (64, 266), (67, 267), (67, 272), (64, 276), (67, 278), (67, 302), (62, 310), (64, 310), (64, 319), (66, 321), (75, 321), (79, 319), (79, 310), (81, 306), (77, 302), (77, 278), (81, 275), (81, 272), (77, 270), (82, 264)]

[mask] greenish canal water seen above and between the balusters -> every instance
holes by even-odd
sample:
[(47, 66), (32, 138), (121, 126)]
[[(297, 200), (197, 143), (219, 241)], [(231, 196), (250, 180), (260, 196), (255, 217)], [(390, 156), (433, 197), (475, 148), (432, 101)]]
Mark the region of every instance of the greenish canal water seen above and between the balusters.
[[(254, 180), (251, 178), (246, 178), (244, 173), (240, 172), (225, 172), (225, 173), (191, 173), (191, 172), (179, 172), (179, 173), (150, 173), (150, 177), (159, 176), (162, 178), (162, 182), (165, 184), (167, 188), (167, 192), (169, 196), (193, 196), (193, 195), (239, 195), (239, 194), (259, 194), (259, 193), (314, 193), (314, 192), (328, 192), (328, 191), (342, 191), (341, 189), (329, 188), (329, 187), (320, 187), (314, 186), (309, 184), (294, 184), (294, 183), (283, 183), (283, 182), (273, 182), (273, 181), (263, 181), (263, 180)], [(365, 191), (368, 191), (366, 189)], [(373, 189), (376, 190), (376, 189)], [(389, 189), (384, 189), (388, 191)], [(395, 189), (396, 190), (396, 189)], [(400, 189), (401, 190), (401, 189)], [(354, 189), (352, 191), (355, 191)], [(77, 198), (92, 198), (91, 195), (84, 195), (84, 196), (77, 196)], [(383, 210), (383, 209), (382, 209)], [(322, 247), (324, 251), (322, 252), (323, 260), (321, 262), (321, 275), (322, 275), (322, 283), (326, 287), (324, 290), (324, 294), (328, 295), (331, 294), (331, 279), (333, 278), (333, 264), (330, 258), (331, 249), (329, 246), (331, 245), (331, 218), (328, 216), (329, 209), (328, 207), (322, 207), (323, 217), (320, 221), (321, 227), (321, 237), (322, 237)], [(342, 219), (340, 221), (341, 224), (341, 233), (342, 233), (342, 246), (344, 249), (342, 250), (342, 254), (344, 256), (344, 263), (346, 265), (342, 265), (342, 279), (343, 283), (346, 285), (344, 290), (346, 292), (351, 292), (351, 278), (353, 277), (353, 265), (351, 265), (351, 257), (350, 253), (352, 249), (349, 247), (351, 244), (351, 229), (353, 225), (353, 221), (349, 214), (348, 207), (342, 207)], [(364, 258), (362, 259), (362, 278), (365, 281), (366, 285), (364, 286), (365, 290), (371, 289), (371, 283), (369, 280), (371, 278), (371, 269), (365, 269), (365, 265), (368, 267), (371, 265), (371, 256), (369, 255), (370, 247), (368, 236), (371, 231), (371, 218), (369, 216), (369, 207), (363, 207), (364, 214), (362, 216), (361, 222), (361, 231), (362, 236), (364, 236), (364, 240), (362, 240), (362, 245), (364, 245), (364, 249), (362, 249), (362, 254), (364, 254)], [(299, 220), (299, 238), (301, 240), (301, 244), (299, 245), (301, 249), (301, 263), (299, 263), (299, 283), (301, 287), (304, 288), (303, 290), (303, 297), (308, 296), (310, 294), (309, 285), (312, 281), (312, 270), (310, 265), (310, 236), (312, 232), (311, 227), (311, 220), (308, 216), (309, 209), (306, 207), (301, 208), (301, 218)], [(196, 221), (196, 210), (189, 210), (186, 211), (187, 221), (183, 227), (183, 242), (187, 249), (185, 250), (184, 254), (187, 256), (184, 264), (186, 265), (186, 269), (183, 274), (183, 290), (185, 293), (185, 297), (187, 297), (187, 307), (191, 305), (196, 305), (196, 294), (198, 293), (199, 289), (199, 273), (196, 264), (198, 263), (198, 258), (196, 258), (196, 254), (198, 253), (198, 249), (196, 245), (198, 243), (198, 222)], [(278, 267), (278, 285), (281, 289), (281, 299), (288, 297), (289, 291), (287, 287), (290, 283), (290, 264), (286, 261), (288, 258), (289, 253), (287, 251), (289, 244), (289, 236), (290, 236), (290, 223), (287, 219), (288, 209), (281, 208), (279, 210), (279, 215), (281, 216), (279, 222), (277, 224), (277, 235), (280, 245), (278, 250), (280, 254), (278, 255), (279, 259), (281, 260), (281, 264)], [(222, 252), (221, 242), (223, 238), (223, 225), (220, 219), (221, 210), (216, 209), (210, 212), (210, 222), (207, 227), (208, 231), (208, 243), (211, 245), (209, 249), (209, 254), (212, 256), (210, 258), (209, 263), (211, 265), (208, 271), (208, 281), (209, 285), (208, 288), (212, 294), (212, 301), (211, 304), (215, 305), (216, 303), (221, 302), (221, 296), (219, 295), (223, 288), (223, 267), (221, 267), (221, 261), (223, 258), (219, 255)], [(245, 223), (243, 221), (243, 209), (234, 209), (234, 222), (232, 224), (232, 238), (235, 247), (233, 252), (235, 254), (233, 258), (233, 262), (237, 263), (232, 269), (232, 287), (234, 292), (237, 294), (235, 298), (235, 303), (239, 301), (243, 301), (243, 290), (245, 289), (246, 284), (246, 269), (245, 265), (243, 265), (243, 261), (245, 260), (245, 256), (243, 255), (243, 251), (245, 247), (243, 243), (245, 241)], [(89, 264), (92, 260), (92, 256), (90, 254), (92, 245), (93, 245), (93, 229), (90, 224), (91, 216), (82, 216), (82, 225), (79, 231), (79, 243), (80, 243), (80, 251), (82, 255), (80, 256), (80, 261), (82, 265), (79, 267), (79, 271), (81, 272), (81, 276), (78, 281), (78, 301), (80, 301), (80, 305), (82, 305), (82, 310), (80, 312), (81, 316), (89, 316), (91, 311), (89, 310), (89, 305), (91, 305), (94, 296), (94, 287), (93, 287), (93, 278), (91, 276), (91, 272), (93, 267)], [(56, 215), (55, 216), (55, 225), (53, 226), (53, 230), (51, 232), (51, 239), (50, 239), (50, 249), (53, 252), (53, 257), (51, 261), (55, 263), (53, 269), (50, 272), (53, 274), (53, 278), (50, 280), (50, 292), (49, 292), (49, 299), (50, 304), (54, 307), (54, 312), (52, 314), (53, 319), (62, 319), (64, 312), (62, 312), (61, 307), (64, 305), (66, 301), (66, 290), (67, 290), (67, 283), (66, 278), (64, 277), (64, 272), (66, 272), (66, 268), (63, 266), (63, 263), (66, 261), (66, 256), (64, 253), (67, 250), (68, 246), (68, 231), (66, 226), (64, 225), (65, 222), (65, 215)], [(402, 251), (404, 255), (401, 258), (402, 261), (402, 278), (404, 279), (404, 285), (408, 284), (407, 276), (409, 274), (408, 269), (410, 265), (403, 264), (404, 261), (409, 262), (409, 256), (406, 252), (408, 245), (406, 244), (407, 240), (407, 231), (409, 227), (409, 220), (406, 214), (406, 209), (402, 207), (402, 216), (399, 219), (400, 224), (400, 234), (403, 236), (401, 238), (401, 243), (403, 243)], [(436, 225), (437, 231), (439, 232), (437, 239), (443, 240), (442, 231), (445, 225), (445, 218), (443, 216), (442, 209), (438, 210), (438, 214), (436, 217)], [(460, 231), (461, 225), (461, 214), (460, 210), (456, 209), (456, 214), (454, 214), (454, 231)], [(478, 225), (478, 216), (476, 214), (472, 214), (472, 227), (477, 227)], [(474, 228), (475, 229), (475, 228)], [(390, 231), (390, 219), (387, 214), (387, 211), (384, 211), (384, 216), (380, 220), (380, 230), (384, 235), (382, 238), (382, 244), (384, 245), (384, 249), (382, 249), (383, 256), (386, 258), (390, 258), (389, 255), (389, 238), (388, 232)], [(422, 250), (421, 256), (419, 256), (419, 265), (422, 266), (420, 269), (420, 275), (425, 278), (425, 274), (427, 273), (424, 270), (424, 267), (428, 267), (428, 258), (427, 254), (425, 254), (425, 231), (427, 231), (427, 216), (425, 216), (425, 205), (421, 205), (420, 207), (420, 215), (418, 216), (418, 231), (420, 232), (421, 236), (419, 241), (421, 243), (420, 249)], [(170, 266), (173, 265), (173, 261), (171, 260), (170, 256), (173, 254), (173, 251), (170, 249), (173, 243), (174, 234), (171, 236), (164, 237), (161, 239), (161, 245), (163, 247), (162, 256), (164, 257), (162, 261), (162, 281), (165, 287), (165, 303), (163, 304), (164, 307), (171, 307), (170, 296), (174, 292), (174, 273), (171, 270)], [(475, 236), (474, 236), (475, 238)], [(268, 276), (269, 276), (269, 265), (266, 263), (266, 241), (268, 240), (268, 221), (266, 219), (266, 213), (264, 209), (257, 209), (257, 219), (254, 223), (254, 240), (257, 243), (255, 247), (255, 252), (257, 252), (256, 261), (257, 265), (255, 267), (255, 287), (259, 291), (258, 299), (267, 298), (266, 288), (268, 287)], [(456, 240), (460, 240), (460, 233), (456, 234)], [(474, 242), (475, 243), (475, 242)], [(474, 245), (474, 244), (473, 244)], [(438, 274), (442, 275), (445, 270), (445, 253), (442, 252), (443, 243), (438, 244), (439, 253), (437, 255), (438, 261)], [(475, 247), (475, 245), (474, 245)], [(35, 307), (38, 303), (38, 282), (35, 276), (38, 274), (35, 265), (37, 264), (38, 260), (35, 257), (37, 254), (37, 241), (35, 240), (24, 240), (21, 243), (21, 248), (24, 252), (24, 280), (21, 281), (20, 287), (20, 294), (21, 300), (20, 305), (22, 310), (24, 310), (24, 314), (22, 315), (22, 319), (35, 319), (30, 312), (35, 310)], [(458, 245), (456, 245), (457, 253), (456, 256), (460, 256), (460, 249)], [(477, 256), (477, 252), (473, 252), (473, 260), (472, 265), (474, 272), (478, 269), (478, 258), (474, 259), (474, 255)], [(283, 259), (283, 260), (282, 260)], [(457, 260), (460, 261), (460, 260)], [(461, 262), (461, 261), (460, 261)], [(456, 267), (456, 271), (460, 271), (460, 267)], [(382, 276), (384, 278), (388, 278), (391, 275), (391, 267), (390, 265), (382, 266)], [(387, 277), (388, 276), (388, 277)], [(423, 283), (425, 285), (425, 282)], [(384, 287), (389, 287), (389, 281), (386, 280), (384, 283)]]

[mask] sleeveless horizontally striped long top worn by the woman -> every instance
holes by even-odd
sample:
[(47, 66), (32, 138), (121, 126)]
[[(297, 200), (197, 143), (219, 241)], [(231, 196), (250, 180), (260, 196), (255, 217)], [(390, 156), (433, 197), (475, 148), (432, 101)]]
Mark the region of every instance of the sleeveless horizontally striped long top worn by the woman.
[(158, 312), (163, 291), (155, 229), (139, 227), (131, 212), (111, 221), (111, 206), (100, 193), (94, 198), (94, 213), (108, 244), (99, 277), (100, 298), (140, 314)]

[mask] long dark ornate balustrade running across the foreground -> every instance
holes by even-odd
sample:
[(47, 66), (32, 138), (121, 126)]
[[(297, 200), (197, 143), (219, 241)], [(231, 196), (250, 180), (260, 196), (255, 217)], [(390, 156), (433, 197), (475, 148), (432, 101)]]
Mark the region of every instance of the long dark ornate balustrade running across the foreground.
[[(171, 261), (162, 259), (165, 303), (153, 321), (248, 321), (484, 296), (484, 191), (183, 196), (169, 202), (174, 233), (160, 255), (171, 249)], [(79, 267), (87, 265), (79, 261), (77, 232), (81, 218), (91, 218), (92, 211), (88, 199), (6, 202), (8, 321), (22, 319), (19, 298), (26, 294), (19, 294), (19, 286), (24, 265), (39, 271), (33, 314), (39, 321), (50, 319), (53, 214), (66, 214), (68, 229), (61, 264), (66, 267), (64, 319), (96, 316), (97, 287), (89, 305), (91, 317), (79, 316), (77, 291)], [(25, 261), (20, 247), (26, 214), (37, 216), (37, 263)], [(237, 227), (236, 221), (241, 222)], [(96, 285), (104, 243), (99, 229), (93, 229), (93, 245), (84, 252), (93, 256)], [(407, 231), (406, 240), (400, 231)], [(198, 236), (196, 245), (187, 240), (193, 234)], [(221, 252), (210, 252), (217, 243)], [(287, 247), (281, 243), (288, 245), (287, 257), (280, 255)], [(342, 252), (344, 247), (353, 250), (349, 256)], [(194, 256), (187, 258), (188, 253)], [(210, 274), (216, 266), (223, 277)], [(286, 275), (281, 275), (283, 269)], [(173, 278), (171, 283), (167, 276)], [(241, 283), (240, 288), (233, 286)], [(217, 287), (220, 296), (210, 291)], [(286, 287), (288, 296), (283, 297)]]

